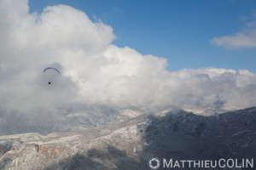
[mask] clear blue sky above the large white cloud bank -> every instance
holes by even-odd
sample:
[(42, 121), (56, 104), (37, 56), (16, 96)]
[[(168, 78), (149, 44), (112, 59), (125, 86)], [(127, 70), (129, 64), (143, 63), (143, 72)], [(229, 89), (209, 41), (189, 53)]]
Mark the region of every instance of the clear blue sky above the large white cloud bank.
[(256, 27), (254, 0), (30, 0), (30, 12), (60, 3), (112, 26), (117, 37), (113, 44), (168, 59), (169, 71), (217, 67), (256, 72), (255, 46), (212, 43), (214, 37), (239, 32), (250, 37), (247, 32)]

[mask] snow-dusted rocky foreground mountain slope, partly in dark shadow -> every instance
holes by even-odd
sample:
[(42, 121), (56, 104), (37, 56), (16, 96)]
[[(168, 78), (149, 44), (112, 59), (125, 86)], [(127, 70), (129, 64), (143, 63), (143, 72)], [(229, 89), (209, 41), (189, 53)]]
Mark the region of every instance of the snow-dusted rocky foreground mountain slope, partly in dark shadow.
[(256, 108), (219, 116), (186, 111), (137, 116), (107, 127), (0, 137), (0, 169), (149, 169), (151, 157), (256, 157)]

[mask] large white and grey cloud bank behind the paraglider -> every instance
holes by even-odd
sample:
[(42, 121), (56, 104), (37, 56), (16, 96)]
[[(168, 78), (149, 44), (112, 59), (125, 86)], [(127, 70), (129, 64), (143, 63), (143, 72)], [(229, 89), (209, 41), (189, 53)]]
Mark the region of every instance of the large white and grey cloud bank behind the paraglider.
[[(36, 114), (67, 105), (148, 108), (256, 105), (256, 74), (217, 68), (167, 71), (167, 60), (119, 48), (113, 28), (67, 5), (29, 13), (0, 1), (0, 109)], [(54, 66), (60, 76), (45, 74)], [(49, 86), (48, 81), (52, 84)]]

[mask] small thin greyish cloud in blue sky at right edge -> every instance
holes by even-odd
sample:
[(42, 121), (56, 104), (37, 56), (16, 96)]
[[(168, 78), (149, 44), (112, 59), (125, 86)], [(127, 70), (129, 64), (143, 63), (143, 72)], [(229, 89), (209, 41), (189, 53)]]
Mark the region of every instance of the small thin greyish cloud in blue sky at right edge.
[(255, 48), (256, 47), (256, 14), (254, 20), (247, 22), (247, 30), (237, 32), (233, 36), (223, 36), (212, 38), (212, 43), (228, 49)]

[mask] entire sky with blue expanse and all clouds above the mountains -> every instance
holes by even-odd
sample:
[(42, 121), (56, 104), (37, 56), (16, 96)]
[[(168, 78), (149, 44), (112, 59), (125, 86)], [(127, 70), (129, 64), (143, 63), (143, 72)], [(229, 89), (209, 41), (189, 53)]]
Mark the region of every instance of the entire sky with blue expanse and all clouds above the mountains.
[(0, 0), (0, 121), (256, 105), (255, 1), (106, 2)]

